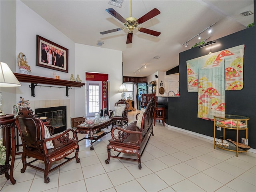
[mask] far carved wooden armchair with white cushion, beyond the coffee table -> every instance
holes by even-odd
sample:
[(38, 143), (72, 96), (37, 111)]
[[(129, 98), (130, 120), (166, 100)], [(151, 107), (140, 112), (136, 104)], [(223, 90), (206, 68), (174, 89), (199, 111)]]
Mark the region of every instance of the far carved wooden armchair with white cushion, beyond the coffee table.
[(128, 109), (129, 104), (121, 99), (115, 103), (115, 110), (109, 110), (108, 116), (113, 119), (112, 128), (114, 125), (120, 125), (123, 127), (125, 124), (128, 125)]

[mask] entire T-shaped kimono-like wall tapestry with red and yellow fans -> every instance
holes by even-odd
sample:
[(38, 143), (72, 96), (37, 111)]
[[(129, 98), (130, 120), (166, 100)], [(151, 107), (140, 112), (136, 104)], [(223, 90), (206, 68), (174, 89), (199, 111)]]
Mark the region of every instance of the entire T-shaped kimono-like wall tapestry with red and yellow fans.
[(187, 61), (188, 92), (198, 92), (198, 117), (225, 113), (225, 90), (243, 88), (244, 45)]

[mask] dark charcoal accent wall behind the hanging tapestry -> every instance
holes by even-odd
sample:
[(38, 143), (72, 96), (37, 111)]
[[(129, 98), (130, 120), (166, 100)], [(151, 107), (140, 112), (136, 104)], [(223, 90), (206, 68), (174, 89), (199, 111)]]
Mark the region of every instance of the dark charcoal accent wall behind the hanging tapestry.
[[(255, 4), (255, 1), (254, 1)], [(255, 7), (255, 5), (254, 5)], [(242, 90), (225, 91), (225, 113), (248, 116), (248, 142), (256, 149), (256, 26), (230, 34), (216, 40), (211, 52), (218, 52), (238, 45), (244, 48), (244, 88)], [(208, 46), (209, 47), (209, 46)], [(180, 53), (179, 76), (180, 97), (173, 100), (168, 109), (170, 125), (213, 137), (214, 122), (197, 118), (198, 93), (187, 90), (186, 61), (207, 55), (205, 48), (192, 48)], [(236, 140), (236, 131), (227, 130), (226, 138)], [(216, 131), (216, 137), (222, 136), (222, 131)], [(239, 132), (239, 142), (245, 137), (245, 131)]]

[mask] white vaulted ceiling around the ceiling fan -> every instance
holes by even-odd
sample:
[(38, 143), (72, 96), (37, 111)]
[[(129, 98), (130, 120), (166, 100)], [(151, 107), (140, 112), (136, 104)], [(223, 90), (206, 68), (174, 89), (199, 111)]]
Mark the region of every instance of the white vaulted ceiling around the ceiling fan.
[[(126, 44), (127, 29), (104, 35), (100, 32), (124, 27), (105, 10), (113, 8), (123, 18), (130, 17), (130, 0), (124, 0), (121, 8), (109, 4), (110, 0), (22, 2), (76, 43), (97, 46), (100, 40), (104, 41), (100, 47), (122, 51), (124, 76), (149, 76), (178, 66), (179, 53), (200, 40), (193, 38), (187, 48), (182, 44), (214, 23), (211, 34), (207, 30), (201, 34), (206, 42), (243, 30), (254, 22), (254, 14), (240, 14), (254, 13), (253, 0), (132, 0), (132, 17), (138, 19), (153, 8), (161, 12), (140, 25), (161, 34), (156, 37), (134, 30), (132, 43)], [(154, 56), (160, 58), (156, 60)], [(142, 68), (145, 64), (147, 68)]]

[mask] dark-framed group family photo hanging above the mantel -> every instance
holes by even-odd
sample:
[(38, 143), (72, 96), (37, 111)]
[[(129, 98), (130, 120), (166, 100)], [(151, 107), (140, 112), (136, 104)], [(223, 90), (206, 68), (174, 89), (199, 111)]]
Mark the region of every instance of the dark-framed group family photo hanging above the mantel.
[(36, 66), (68, 73), (68, 49), (36, 35)]

